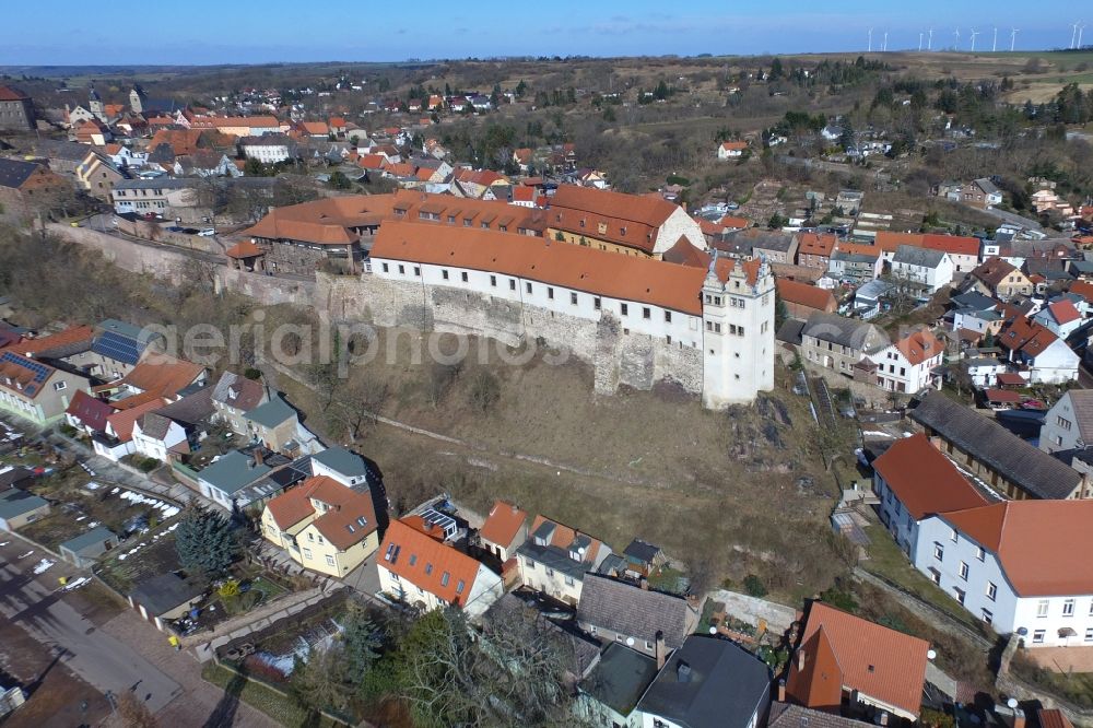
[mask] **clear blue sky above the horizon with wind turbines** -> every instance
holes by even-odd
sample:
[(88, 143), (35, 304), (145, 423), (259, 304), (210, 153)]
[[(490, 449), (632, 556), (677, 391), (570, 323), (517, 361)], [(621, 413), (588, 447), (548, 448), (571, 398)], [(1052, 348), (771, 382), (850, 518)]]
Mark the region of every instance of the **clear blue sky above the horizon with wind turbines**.
[[(85, 0), (3, 3), (0, 64), (251, 63), (383, 61), (504, 55), (696, 55), (865, 50), (888, 32), (890, 50), (917, 49), (933, 27), (933, 47), (961, 49), (1070, 45), (1074, 0), (550, 0), (545, 2), (329, 3), (153, 0), (101, 5)], [(111, 9), (119, 12), (107, 19)], [(678, 10), (677, 10), (678, 9)], [(43, 17), (48, 14), (48, 20)], [(1088, 21), (1093, 22), (1093, 9)], [(106, 20), (98, 20), (99, 17)], [(14, 31), (13, 33), (11, 31)], [(1093, 27), (1083, 43), (1093, 44)]]

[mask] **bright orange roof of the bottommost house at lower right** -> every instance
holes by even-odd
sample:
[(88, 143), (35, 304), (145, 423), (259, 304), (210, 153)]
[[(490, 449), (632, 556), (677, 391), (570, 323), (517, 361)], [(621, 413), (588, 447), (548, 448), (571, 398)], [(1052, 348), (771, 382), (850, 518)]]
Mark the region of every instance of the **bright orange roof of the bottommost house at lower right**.
[[(910, 715), (918, 715), (929, 643), (814, 601), (804, 623), (801, 645), (822, 646), (823, 639), (812, 639), (821, 630), (842, 674), (841, 688), (857, 690)], [(818, 655), (812, 655), (813, 661), (816, 661)], [(806, 659), (808, 657), (807, 654)], [(792, 670), (797, 660), (791, 660), (791, 665)], [(823, 672), (814, 672), (812, 680), (822, 677)]]

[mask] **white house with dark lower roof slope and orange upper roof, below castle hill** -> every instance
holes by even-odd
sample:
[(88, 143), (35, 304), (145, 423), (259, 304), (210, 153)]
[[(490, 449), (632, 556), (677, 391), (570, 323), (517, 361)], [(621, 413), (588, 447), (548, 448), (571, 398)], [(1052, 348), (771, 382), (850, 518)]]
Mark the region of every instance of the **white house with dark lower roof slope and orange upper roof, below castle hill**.
[(603, 563), (611, 548), (568, 526), (536, 516), (528, 540), (516, 549), (516, 553), (525, 586), (576, 604), (580, 601), (585, 575)]

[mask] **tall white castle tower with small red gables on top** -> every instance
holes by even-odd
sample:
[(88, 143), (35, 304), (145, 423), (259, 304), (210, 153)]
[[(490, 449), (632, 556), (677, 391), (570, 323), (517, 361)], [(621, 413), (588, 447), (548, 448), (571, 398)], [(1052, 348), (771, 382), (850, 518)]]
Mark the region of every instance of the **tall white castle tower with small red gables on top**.
[(774, 290), (765, 258), (715, 251), (702, 285), (703, 406), (751, 403), (774, 389)]

